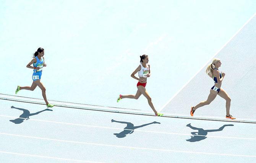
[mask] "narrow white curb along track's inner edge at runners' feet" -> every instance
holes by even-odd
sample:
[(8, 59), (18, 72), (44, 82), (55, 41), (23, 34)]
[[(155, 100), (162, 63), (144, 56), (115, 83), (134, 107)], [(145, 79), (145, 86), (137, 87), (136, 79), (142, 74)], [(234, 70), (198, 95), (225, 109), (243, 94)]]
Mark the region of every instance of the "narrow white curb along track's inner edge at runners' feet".
[[(0, 96), (0, 99), (8, 100), (8, 101), (18, 101), (18, 102), (26, 102), (26, 103), (32, 103), (32, 104), (41, 104), (41, 102), (36, 101), (23, 101), (19, 99), (8, 99), (8, 98), (2, 98)], [(44, 105), (44, 104), (43, 104)], [(136, 111), (127, 111), (127, 110), (110, 110), (110, 109), (100, 109), (100, 108), (89, 108), (89, 107), (75, 107), (75, 106), (68, 106), (68, 105), (55, 105), (57, 107), (64, 107), (64, 108), (72, 108), (72, 109), (83, 109), (83, 110), (94, 110), (94, 111), (101, 111), (101, 112), (113, 112), (113, 113), (125, 113), (125, 114), (134, 114), (134, 115), (147, 115), (147, 116), (156, 116), (149, 112), (136, 112)], [(195, 119), (195, 120), (211, 120), (211, 121), (229, 121), (229, 122), (241, 122), (241, 123), (256, 123), (256, 120), (246, 120), (246, 119), (235, 119), (235, 120), (229, 120), (229, 119), (222, 119), (222, 118), (214, 118), (214, 117), (191, 117), (191, 116), (184, 116), (184, 115), (170, 115), (170, 114), (164, 114), (162, 117), (169, 117), (169, 118), (182, 118), (182, 119)]]

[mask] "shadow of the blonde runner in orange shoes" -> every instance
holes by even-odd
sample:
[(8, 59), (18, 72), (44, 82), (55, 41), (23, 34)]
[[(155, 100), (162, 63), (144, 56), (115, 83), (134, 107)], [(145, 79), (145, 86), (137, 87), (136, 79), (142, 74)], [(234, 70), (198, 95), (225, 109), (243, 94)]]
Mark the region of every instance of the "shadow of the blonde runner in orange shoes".
[(190, 139), (187, 139), (186, 141), (189, 141), (189, 142), (198, 142), (198, 141), (201, 141), (201, 140), (204, 140), (206, 139), (206, 135), (207, 133), (209, 132), (216, 132), (216, 131), (222, 131), (224, 129), (225, 126), (234, 126), (234, 125), (223, 125), (222, 127), (220, 127), (219, 129), (206, 129), (204, 130), (203, 128), (196, 128), (196, 127), (193, 127), (191, 126), (191, 123), (186, 125), (188, 127), (190, 127), (191, 129), (194, 129), (194, 130), (198, 130), (198, 132), (191, 132), (192, 135), (194, 136), (191, 136)]

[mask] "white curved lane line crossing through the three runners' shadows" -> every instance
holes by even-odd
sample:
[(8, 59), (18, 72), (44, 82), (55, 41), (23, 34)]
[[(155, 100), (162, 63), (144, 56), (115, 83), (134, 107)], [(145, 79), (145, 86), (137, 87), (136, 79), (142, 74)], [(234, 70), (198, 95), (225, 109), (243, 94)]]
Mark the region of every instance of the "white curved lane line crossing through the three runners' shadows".
[[(11, 117), (7, 115), (0, 115), (0, 117), (8, 117), (8, 118), (17, 118), (17, 117)], [(26, 119), (26, 118), (21, 118)], [(42, 121), (42, 122), (49, 122), (49, 123), (59, 123), (64, 125), (74, 125), (74, 126), (85, 126), (85, 127), (92, 127), (92, 128), (106, 128), (106, 129), (118, 129), (118, 130), (129, 130), (134, 131), (134, 129), (124, 129), (124, 128), (113, 128), (113, 127), (104, 127), (104, 126), (94, 126), (94, 125), (83, 125), (83, 124), (76, 124), (76, 123), (66, 123), (66, 122), (57, 122), (57, 121), (47, 121), (47, 120), (37, 120), (37, 119), (30, 119), (34, 121)], [(173, 134), (173, 135), (185, 135), (185, 136), (194, 136), (192, 134), (181, 134), (181, 133), (167, 133), (167, 132), (161, 132), (161, 131), (146, 131), (146, 130), (139, 130), (136, 129), (136, 132), (145, 132), (145, 133), (157, 133), (157, 134)], [(196, 135), (196, 136), (205, 136), (205, 135)], [(256, 138), (247, 138), (247, 137), (227, 137), (227, 136), (208, 136), (207, 137), (218, 137), (218, 138), (227, 138), (227, 139), (246, 139), (246, 140), (256, 140)]]

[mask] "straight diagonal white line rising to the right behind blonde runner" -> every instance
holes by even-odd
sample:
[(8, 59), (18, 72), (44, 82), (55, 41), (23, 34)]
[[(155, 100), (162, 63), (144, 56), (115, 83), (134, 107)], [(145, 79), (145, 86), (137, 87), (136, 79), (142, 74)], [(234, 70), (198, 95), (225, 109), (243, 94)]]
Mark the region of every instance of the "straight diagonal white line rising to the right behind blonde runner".
[(191, 80), (193, 80), (193, 78), (194, 77), (196, 77), (196, 75), (197, 74), (199, 74), (199, 72), (201, 72), (201, 70), (203, 70), (203, 68), (204, 67), (206, 67), (206, 65), (208, 64), (208, 63), (210, 63), (211, 61), (212, 61), (212, 59), (240, 32), (240, 30), (242, 30), (243, 29), (243, 27), (245, 27), (246, 26), (246, 24), (248, 24), (248, 22), (250, 22), (251, 21), (251, 19), (253, 19), (254, 18), (254, 16), (256, 16), (256, 13), (254, 13), (253, 14), (253, 16), (251, 16), (251, 18), (233, 35), (233, 37), (231, 37), (229, 40), (228, 40), (228, 42), (227, 43), (225, 43), (225, 45), (224, 46), (222, 46), (222, 48), (220, 48), (220, 50), (219, 51), (217, 51), (217, 53), (215, 53), (214, 54), (214, 56), (212, 56), (212, 58), (209, 60), (209, 61), (207, 61), (206, 62), (206, 64), (204, 64), (204, 66), (198, 71), (198, 72), (196, 72), (196, 74), (192, 77), (192, 78), (190, 78), (190, 80), (188, 80), (188, 82), (186, 82), (186, 84), (180, 89), (180, 90), (178, 90), (178, 92), (177, 93), (175, 93), (170, 99), (169, 99), (169, 101), (168, 102), (166, 102), (162, 107), (161, 107), (161, 109), (159, 110), (159, 112), (161, 112), (171, 101), (172, 101), (172, 99), (175, 97), (175, 96), (177, 96), (177, 94), (178, 93), (180, 93), (180, 91), (183, 89), (183, 88), (185, 88), (185, 86), (186, 85), (188, 85), (188, 83), (190, 83), (191, 82)]

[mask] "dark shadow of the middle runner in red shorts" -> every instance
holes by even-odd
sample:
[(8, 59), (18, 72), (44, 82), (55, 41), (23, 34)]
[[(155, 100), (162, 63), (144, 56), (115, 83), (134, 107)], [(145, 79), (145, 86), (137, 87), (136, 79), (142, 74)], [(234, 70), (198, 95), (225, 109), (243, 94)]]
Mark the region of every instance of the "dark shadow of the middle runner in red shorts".
[(114, 134), (118, 138), (125, 137), (127, 134), (132, 134), (134, 132), (134, 129), (141, 128), (141, 127), (151, 125), (151, 124), (160, 124), (160, 122), (154, 121), (154, 122), (147, 123), (147, 124), (144, 124), (144, 125), (134, 126), (131, 122), (123, 122), (123, 121), (115, 121), (115, 120), (111, 120), (111, 122), (125, 123), (127, 125), (121, 133), (115, 133)]

